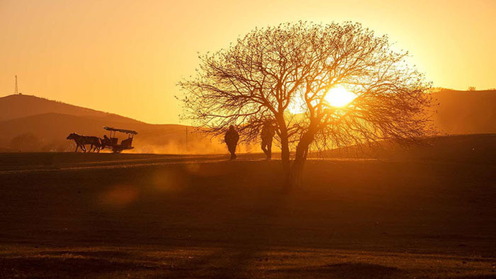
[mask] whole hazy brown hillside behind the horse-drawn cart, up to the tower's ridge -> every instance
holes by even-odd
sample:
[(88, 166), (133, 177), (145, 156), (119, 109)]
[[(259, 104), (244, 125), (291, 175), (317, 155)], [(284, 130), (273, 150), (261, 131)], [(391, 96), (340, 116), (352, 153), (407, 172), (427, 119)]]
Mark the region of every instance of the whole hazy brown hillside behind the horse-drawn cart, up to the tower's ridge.
[[(185, 125), (154, 125), (143, 123), (113, 113), (72, 106), (45, 98), (26, 95), (11, 95), (0, 98), (0, 150), (9, 149), (14, 137), (34, 135), (42, 149), (25, 148), (25, 151), (69, 151), (72, 142), (66, 139), (71, 132), (80, 135), (108, 135), (103, 127), (136, 130), (132, 152), (147, 153), (215, 153), (220, 152), (220, 141), (194, 132)], [(186, 145), (186, 128), (188, 143)], [(117, 134), (120, 139), (127, 135)]]

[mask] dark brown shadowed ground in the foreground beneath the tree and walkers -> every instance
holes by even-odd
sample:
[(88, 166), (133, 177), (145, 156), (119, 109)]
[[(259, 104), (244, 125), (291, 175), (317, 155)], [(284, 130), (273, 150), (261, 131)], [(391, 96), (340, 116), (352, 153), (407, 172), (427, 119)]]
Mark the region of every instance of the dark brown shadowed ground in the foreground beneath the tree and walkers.
[(495, 278), (496, 165), (0, 154), (0, 278)]

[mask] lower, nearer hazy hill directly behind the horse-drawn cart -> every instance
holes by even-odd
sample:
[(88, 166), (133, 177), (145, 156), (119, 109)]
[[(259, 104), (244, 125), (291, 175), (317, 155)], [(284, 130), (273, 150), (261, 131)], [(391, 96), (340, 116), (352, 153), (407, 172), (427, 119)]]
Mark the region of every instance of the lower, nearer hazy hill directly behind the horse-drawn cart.
[[(72, 141), (66, 139), (71, 132), (80, 135), (108, 134), (104, 126), (123, 127), (138, 131), (132, 152), (143, 153), (215, 153), (220, 142), (210, 141), (203, 135), (188, 132), (186, 147), (186, 126), (184, 125), (152, 125), (137, 121), (123, 123), (112, 117), (94, 118), (91, 116), (67, 115), (61, 113), (44, 113), (30, 115), (0, 122), (0, 146), (9, 147), (16, 135), (35, 135), (39, 144), (35, 147), (24, 147), (23, 151), (69, 151), (74, 148)], [(117, 135), (121, 139), (127, 135)], [(18, 150), (11, 150), (17, 152)]]

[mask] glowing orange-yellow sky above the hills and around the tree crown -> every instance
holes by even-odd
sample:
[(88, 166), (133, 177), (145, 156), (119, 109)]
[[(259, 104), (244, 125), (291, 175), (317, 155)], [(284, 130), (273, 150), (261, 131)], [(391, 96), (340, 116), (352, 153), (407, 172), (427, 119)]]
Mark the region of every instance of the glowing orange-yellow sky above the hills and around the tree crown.
[(0, 0), (0, 96), (23, 93), (179, 123), (196, 52), (255, 26), (358, 21), (409, 50), (434, 86), (496, 87), (496, 1)]

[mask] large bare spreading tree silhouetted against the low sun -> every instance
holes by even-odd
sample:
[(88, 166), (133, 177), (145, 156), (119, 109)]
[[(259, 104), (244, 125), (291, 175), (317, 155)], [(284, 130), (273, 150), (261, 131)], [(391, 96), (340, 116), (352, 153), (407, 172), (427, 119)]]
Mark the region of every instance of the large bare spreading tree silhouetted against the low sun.
[[(412, 140), (429, 132), (430, 84), (405, 57), (386, 36), (359, 23), (255, 29), (227, 49), (201, 56), (196, 76), (179, 83), (184, 118), (213, 135), (237, 125), (247, 141), (257, 137), (264, 120), (274, 120), (283, 169), (288, 182), (298, 185), (312, 144)], [(356, 98), (332, 106), (327, 94), (337, 86)], [(291, 112), (295, 106), (300, 113)]]

